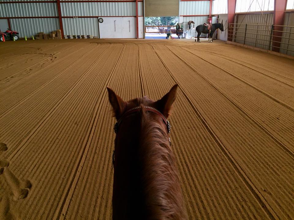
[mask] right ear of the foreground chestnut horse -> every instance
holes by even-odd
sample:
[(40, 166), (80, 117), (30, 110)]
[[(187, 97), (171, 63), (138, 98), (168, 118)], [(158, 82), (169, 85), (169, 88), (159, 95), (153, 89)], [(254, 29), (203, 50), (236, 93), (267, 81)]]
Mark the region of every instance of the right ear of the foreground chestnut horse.
[(155, 102), (156, 108), (166, 117), (168, 118), (169, 112), (171, 110), (171, 105), (175, 101), (176, 93), (177, 93), (178, 84), (175, 84), (171, 90), (164, 95), (160, 100)]

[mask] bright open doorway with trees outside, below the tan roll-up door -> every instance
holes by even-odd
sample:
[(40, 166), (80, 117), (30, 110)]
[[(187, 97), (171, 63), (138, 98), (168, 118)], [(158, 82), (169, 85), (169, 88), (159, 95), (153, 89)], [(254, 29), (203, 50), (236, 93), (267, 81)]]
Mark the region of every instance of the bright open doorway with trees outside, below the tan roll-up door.
[(146, 39), (167, 39), (171, 34), (173, 38), (176, 35), (176, 24), (179, 17), (145, 17), (145, 38)]

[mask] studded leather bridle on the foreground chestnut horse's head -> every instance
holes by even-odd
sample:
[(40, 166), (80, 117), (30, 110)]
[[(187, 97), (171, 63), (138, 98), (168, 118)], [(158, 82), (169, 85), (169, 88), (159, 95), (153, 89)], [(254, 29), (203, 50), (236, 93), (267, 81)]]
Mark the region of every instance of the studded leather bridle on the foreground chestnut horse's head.
[[(131, 114), (133, 114), (135, 112), (139, 112), (141, 108), (142, 108), (141, 106), (137, 106), (135, 108), (131, 108), (131, 109), (127, 110), (123, 114), (123, 116), (120, 117), (120, 119), (118, 119), (117, 123), (115, 123), (115, 125), (114, 125), (114, 132), (116, 134), (115, 145), (116, 145), (116, 141), (117, 141), (117, 132), (118, 132), (118, 129), (119, 129), (119, 125), (122, 122), (123, 118), (125, 118), (126, 116), (129, 116), (129, 115), (131, 115)], [(143, 106), (143, 108), (145, 108), (145, 110), (148, 111), (148, 112), (154, 112), (157, 115), (159, 115), (162, 118), (162, 120), (164, 121), (165, 125), (166, 125), (168, 134), (171, 133), (171, 124), (160, 111), (158, 111), (156, 108), (153, 108), (153, 107), (150, 107), (150, 106)], [(168, 136), (168, 140), (169, 140), (169, 144), (171, 145), (171, 138), (169, 136)], [(114, 151), (112, 153), (112, 164), (114, 165)]]

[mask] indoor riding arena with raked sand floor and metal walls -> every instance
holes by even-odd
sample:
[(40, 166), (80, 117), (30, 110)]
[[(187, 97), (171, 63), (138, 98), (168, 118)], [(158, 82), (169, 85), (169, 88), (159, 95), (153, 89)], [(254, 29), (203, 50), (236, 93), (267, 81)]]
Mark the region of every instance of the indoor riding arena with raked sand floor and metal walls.
[(107, 87), (156, 101), (175, 84), (168, 120), (187, 219), (294, 219), (293, 0), (0, 10), (0, 219), (112, 219)]

